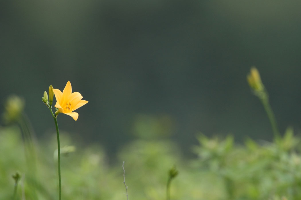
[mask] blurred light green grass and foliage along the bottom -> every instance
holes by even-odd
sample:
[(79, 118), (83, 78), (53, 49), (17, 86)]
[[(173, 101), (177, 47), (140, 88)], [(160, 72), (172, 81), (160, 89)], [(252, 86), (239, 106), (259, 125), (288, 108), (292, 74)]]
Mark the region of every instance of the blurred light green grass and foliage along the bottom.
[[(62, 199), (126, 199), (123, 161), (130, 200), (165, 199), (168, 170), (173, 164), (179, 175), (172, 182), (171, 199), (301, 199), (301, 146), (291, 129), (281, 140), (260, 145), (251, 139), (235, 145), (231, 136), (220, 140), (200, 135), (200, 145), (193, 148), (198, 155), (194, 160), (182, 157), (170, 141), (139, 139), (125, 144), (118, 161), (110, 165), (98, 145), (79, 147), (67, 133), (61, 138), (62, 147), (76, 146), (75, 152), (62, 155)], [(34, 199), (32, 190), (38, 199), (57, 199), (56, 145), (55, 134), (35, 144), (37, 171), (33, 180), (26, 167), (20, 130), (15, 126), (0, 128), (0, 199), (12, 199), (11, 176), (16, 171), (22, 175), (18, 199)]]

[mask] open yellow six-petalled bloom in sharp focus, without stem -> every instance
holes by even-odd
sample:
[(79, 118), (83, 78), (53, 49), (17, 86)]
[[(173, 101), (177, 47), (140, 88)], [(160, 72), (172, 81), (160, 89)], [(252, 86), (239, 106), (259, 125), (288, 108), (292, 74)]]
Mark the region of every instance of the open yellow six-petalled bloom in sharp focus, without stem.
[(58, 108), (58, 111), (55, 112), (55, 114), (57, 115), (61, 112), (66, 115), (70, 115), (76, 121), (78, 118), (78, 113), (72, 111), (85, 105), (86, 103), (88, 103), (88, 101), (81, 100), (82, 95), (79, 92), (72, 93), (70, 81), (67, 82), (63, 92), (61, 92), (61, 90), (59, 89), (53, 89), (52, 91), (57, 100), (57, 103), (54, 107)]

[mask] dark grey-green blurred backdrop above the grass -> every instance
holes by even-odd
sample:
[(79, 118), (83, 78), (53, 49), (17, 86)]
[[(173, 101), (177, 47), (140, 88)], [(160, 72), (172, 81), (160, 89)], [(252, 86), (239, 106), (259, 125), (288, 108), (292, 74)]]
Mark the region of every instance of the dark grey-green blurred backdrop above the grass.
[[(255, 65), (283, 133), (301, 118), (301, 1), (0, 1), (0, 103), (26, 100), (38, 138), (54, 134), (42, 103), (70, 80), (89, 103), (59, 127), (114, 154), (135, 138), (271, 140), (246, 75)], [(0, 108), (3, 112), (3, 106)]]

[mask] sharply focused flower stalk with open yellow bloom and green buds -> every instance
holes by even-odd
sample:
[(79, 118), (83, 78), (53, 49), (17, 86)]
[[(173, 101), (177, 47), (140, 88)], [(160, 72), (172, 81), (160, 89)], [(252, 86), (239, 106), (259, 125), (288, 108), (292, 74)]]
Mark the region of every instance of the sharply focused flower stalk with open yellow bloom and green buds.
[[(47, 92), (44, 92), (42, 101), (50, 110), (50, 113), (54, 119), (54, 124), (57, 132), (57, 161), (58, 161), (58, 183), (59, 183), (59, 200), (62, 199), (62, 183), (61, 183), (61, 147), (60, 147), (60, 132), (57, 124), (57, 115), (59, 113), (64, 113), (70, 115), (75, 121), (78, 119), (78, 113), (72, 112), (73, 110), (78, 109), (79, 107), (88, 103), (86, 100), (82, 100), (82, 95), (79, 92), (73, 92), (71, 88), (70, 81), (67, 82), (63, 92), (59, 89), (53, 89), (52, 85), (49, 86), (49, 101)], [(57, 100), (55, 104), (55, 113), (53, 114), (51, 106), (53, 101), (53, 96)]]

